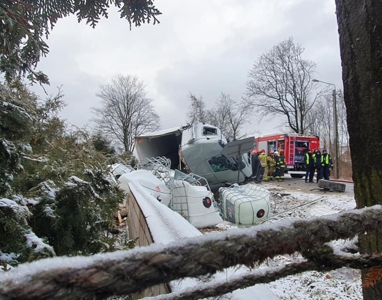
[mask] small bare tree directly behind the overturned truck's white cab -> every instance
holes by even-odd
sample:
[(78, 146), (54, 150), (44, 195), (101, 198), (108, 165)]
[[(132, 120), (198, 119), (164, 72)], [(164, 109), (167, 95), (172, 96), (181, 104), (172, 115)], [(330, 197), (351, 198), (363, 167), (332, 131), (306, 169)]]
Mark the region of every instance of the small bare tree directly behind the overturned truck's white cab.
[(222, 93), (215, 107), (207, 111), (207, 119), (208, 123), (219, 127), (224, 136), (241, 139), (246, 135), (242, 134), (242, 127), (248, 122), (251, 113), (247, 102), (238, 103), (229, 94)]

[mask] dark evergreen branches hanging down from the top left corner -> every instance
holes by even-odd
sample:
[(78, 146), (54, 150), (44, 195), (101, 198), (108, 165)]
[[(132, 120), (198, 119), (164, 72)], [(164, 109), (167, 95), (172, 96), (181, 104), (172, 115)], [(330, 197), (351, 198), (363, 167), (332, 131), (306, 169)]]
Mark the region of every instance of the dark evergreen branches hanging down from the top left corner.
[(31, 82), (49, 84), (43, 72), (34, 69), (49, 47), (44, 41), (58, 19), (76, 15), (93, 28), (108, 8), (115, 6), (119, 16), (132, 24), (159, 23), (160, 11), (152, 0), (1, 0), (0, 1), (0, 74), (6, 81), (26, 75)]

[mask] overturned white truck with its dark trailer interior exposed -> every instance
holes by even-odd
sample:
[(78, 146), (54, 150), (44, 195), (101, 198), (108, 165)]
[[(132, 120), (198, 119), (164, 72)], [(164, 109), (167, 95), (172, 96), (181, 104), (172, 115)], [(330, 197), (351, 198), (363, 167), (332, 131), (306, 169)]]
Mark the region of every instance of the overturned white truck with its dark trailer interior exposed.
[(140, 160), (167, 157), (173, 170), (206, 178), (213, 191), (238, 183), (238, 180), (243, 182), (252, 173), (247, 154), (237, 157), (222, 155), (227, 143), (218, 127), (205, 123), (135, 136), (135, 149)]

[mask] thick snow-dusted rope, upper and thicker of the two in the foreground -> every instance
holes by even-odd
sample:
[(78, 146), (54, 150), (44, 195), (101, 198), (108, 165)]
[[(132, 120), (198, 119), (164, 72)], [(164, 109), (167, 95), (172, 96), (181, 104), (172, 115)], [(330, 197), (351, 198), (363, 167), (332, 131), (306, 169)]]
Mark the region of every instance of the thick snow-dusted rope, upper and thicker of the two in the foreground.
[(335, 217), (215, 232), (172, 245), (153, 244), (86, 258), (48, 258), (1, 274), (0, 299), (103, 299), (131, 294), (158, 283), (215, 274), (236, 265), (253, 267), (268, 257), (320, 249), (331, 240), (349, 239), (379, 228), (382, 209), (376, 206)]

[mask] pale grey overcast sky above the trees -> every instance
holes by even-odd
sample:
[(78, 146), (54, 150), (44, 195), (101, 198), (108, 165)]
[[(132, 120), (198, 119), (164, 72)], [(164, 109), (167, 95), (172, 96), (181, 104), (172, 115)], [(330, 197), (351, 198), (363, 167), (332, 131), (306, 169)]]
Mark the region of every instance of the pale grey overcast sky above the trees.
[[(110, 9), (92, 29), (76, 17), (61, 19), (49, 35), (50, 53), (38, 70), (49, 75), (48, 93), (63, 86), (69, 123), (83, 127), (99, 106), (95, 93), (116, 74), (136, 75), (147, 84), (162, 128), (185, 125), (188, 95), (207, 108), (220, 93), (240, 102), (247, 73), (260, 54), (292, 36), (317, 63), (317, 79), (342, 88), (334, 0), (154, 1), (160, 24), (129, 30)], [(33, 88), (44, 96), (42, 88)], [(279, 132), (278, 121), (247, 125), (261, 134)]]

